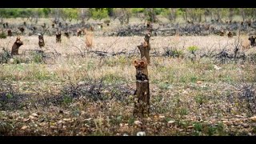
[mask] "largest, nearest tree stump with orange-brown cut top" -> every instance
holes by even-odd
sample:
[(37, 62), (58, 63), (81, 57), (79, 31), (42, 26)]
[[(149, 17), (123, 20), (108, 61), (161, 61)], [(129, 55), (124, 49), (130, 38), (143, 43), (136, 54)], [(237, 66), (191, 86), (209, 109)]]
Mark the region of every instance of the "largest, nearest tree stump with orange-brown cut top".
[(134, 98), (134, 115), (144, 116), (150, 113), (150, 82), (147, 72), (146, 58), (135, 60), (136, 90)]

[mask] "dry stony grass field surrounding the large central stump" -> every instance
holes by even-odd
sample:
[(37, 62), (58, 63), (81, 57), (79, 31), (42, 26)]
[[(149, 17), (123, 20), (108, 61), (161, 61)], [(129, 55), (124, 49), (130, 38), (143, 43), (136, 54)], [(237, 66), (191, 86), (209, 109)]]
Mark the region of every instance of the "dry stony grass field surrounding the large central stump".
[[(142, 37), (21, 37), (12, 62), (0, 64), (1, 135), (256, 135), (256, 58), (220, 62), (200, 57), (233, 53), (238, 36), (151, 37), (150, 115), (134, 118), (137, 46)], [(241, 36), (241, 50), (256, 49)], [(15, 37), (0, 39), (10, 51)], [(196, 46), (191, 60), (188, 47)], [(174, 50), (179, 56), (165, 56)], [(103, 54), (103, 55), (102, 55)], [(105, 55), (104, 55), (105, 54)], [(241, 61), (241, 62), (240, 62)], [(141, 133), (138, 133), (141, 132)]]

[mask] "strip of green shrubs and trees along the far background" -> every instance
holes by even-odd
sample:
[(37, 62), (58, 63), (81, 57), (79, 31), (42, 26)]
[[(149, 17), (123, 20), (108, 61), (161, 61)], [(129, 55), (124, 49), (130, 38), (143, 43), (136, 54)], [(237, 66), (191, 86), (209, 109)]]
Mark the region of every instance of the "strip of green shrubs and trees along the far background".
[[(192, 22), (232, 21), (240, 16), (242, 21), (254, 21), (254, 8), (1, 8), (0, 18), (27, 18), (37, 22), (38, 18), (54, 18), (54, 20), (88, 21), (109, 18), (118, 19), (121, 24), (129, 23), (131, 17), (141, 21), (158, 22), (162, 15), (174, 22), (178, 17)], [(208, 18), (208, 20), (207, 20)]]

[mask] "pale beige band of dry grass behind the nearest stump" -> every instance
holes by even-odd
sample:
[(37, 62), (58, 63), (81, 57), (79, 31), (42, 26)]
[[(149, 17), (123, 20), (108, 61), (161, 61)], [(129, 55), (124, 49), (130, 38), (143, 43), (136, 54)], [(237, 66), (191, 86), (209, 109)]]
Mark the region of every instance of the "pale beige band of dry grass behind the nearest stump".
[[(1, 39), (0, 47), (6, 47), (8, 50), (11, 49), (12, 44), (15, 42), (16, 37), (7, 37), (6, 39)], [(20, 47), (20, 54), (23, 50), (35, 50), (38, 48), (38, 37), (24, 37), (21, 36), (24, 45)], [(56, 43), (55, 37), (45, 36), (46, 46), (43, 50), (47, 52), (54, 52), (54, 49), (60, 54), (79, 54), (79, 50), (74, 46), (86, 47), (93, 44), (91, 50), (108, 51), (108, 52), (118, 52), (120, 50), (136, 50), (142, 41), (143, 37), (94, 37), (93, 34), (88, 34), (86, 36), (86, 41), (79, 37), (70, 37), (70, 39), (63, 37), (62, 43)], [(170, 37), (152, 37), (151, 47), (152, 50), (157, 50), (162, 52), (166, 47), (175, 47), (177, 50), (186, 49), (189, 46), (198, 46), (199, 50), (233, 50), (234, 44), (238, 42), (238, 37), (233, 38), (219, 37), (219, 36), (170, 36)], [(247, 46), (246, 36), (242, 36), (240, 42), (242, 46)], [(254, 49), (251, 49), (254, 51)], [(250, 51), (251, 51), (250, 50)]]

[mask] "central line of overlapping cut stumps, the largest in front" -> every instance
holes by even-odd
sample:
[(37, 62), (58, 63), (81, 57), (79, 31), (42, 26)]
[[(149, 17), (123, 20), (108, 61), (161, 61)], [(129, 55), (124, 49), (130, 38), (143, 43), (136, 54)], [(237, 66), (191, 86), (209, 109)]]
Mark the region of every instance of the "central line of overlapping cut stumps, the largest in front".
[(150, 81), (147, 66), (150, 64), (150, 37), (152, 25), (147, 25), (148, 32), (144, 42), (138, 46), (141, 58), (134, 60), (136, 68), (136, 90), (134, 98), (134, 116), (144, 117), (150, 114)]

